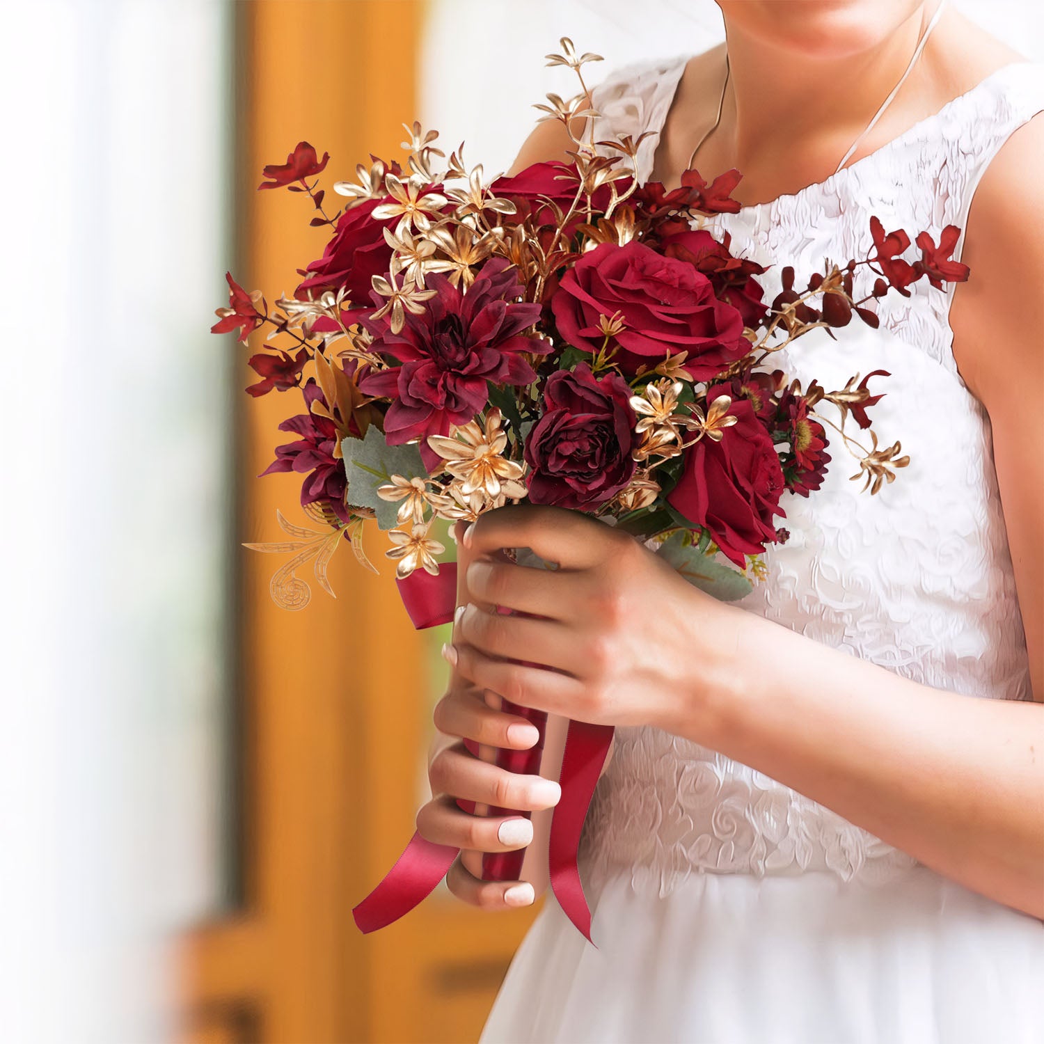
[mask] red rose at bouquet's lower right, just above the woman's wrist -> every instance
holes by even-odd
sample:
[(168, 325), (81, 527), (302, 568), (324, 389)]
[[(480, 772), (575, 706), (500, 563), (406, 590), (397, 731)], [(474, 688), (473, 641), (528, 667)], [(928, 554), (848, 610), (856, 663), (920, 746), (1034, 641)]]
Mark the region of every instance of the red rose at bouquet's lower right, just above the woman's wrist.
[[(729, 395), (726, 384), (708, 389), (707, 400)], [(760, 554), (776, 540), (773, 516), (785, 489), (783, 469), (764, 425), (746, 399), (733, 399), (729, 412), (738, 420), (725, 428), (719, 443), (706, 435), (685, 451), (682, 476), (667, 501), (693, 524), (706, 526), (730, 561)]]

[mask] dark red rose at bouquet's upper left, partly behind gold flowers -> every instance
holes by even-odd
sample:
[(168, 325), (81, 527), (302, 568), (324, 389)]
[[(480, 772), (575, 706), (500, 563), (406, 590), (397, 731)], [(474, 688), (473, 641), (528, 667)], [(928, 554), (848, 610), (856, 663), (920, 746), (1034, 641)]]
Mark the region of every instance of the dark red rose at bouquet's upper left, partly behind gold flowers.
[(323, 257), (308, 266), (313, 275), (294, 290), (296, 298), (306, 300), (308, 290), (318, 298), (324, 290), (345, 286), (353, 305), (369, 306), (373, 277), (384, 276), (392, 263), (392, 247), (384, 240), (384, 230), (394, 228), (398, 218), (373, 217), (374, 210), (385, 201), (366, 199), (340, 215)]

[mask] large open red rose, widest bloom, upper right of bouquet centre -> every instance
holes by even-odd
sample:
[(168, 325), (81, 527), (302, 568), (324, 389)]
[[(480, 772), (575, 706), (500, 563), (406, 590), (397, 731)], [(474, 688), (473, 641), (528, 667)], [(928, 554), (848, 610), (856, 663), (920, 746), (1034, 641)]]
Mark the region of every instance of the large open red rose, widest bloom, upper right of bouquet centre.
[(630, 375), (669, 353), (687, 352), (685, 369), (710, 380), (750, 350), (739, 312), (718, 301), (711, 281), (686, 261), (664, 257), (636, 240), (602, 243), (584, 254), (551, 298), (559, 333), (596, 352), (604, 336), (599, 317), (622, 312), (614, 361)]

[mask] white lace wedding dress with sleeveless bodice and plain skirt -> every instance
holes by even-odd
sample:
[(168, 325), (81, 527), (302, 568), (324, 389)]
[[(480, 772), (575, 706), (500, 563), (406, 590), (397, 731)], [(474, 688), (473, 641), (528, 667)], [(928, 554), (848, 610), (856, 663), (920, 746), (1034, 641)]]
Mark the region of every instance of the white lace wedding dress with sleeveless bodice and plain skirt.
[[(596, 140), (659, 130), (686, 60), (611, 74)], [(871, 214), (938, 239), (965, 226), (982, 170), (1041, 110), (1044, 67), (1007, 66), (822, 184), (721, 224), (735, 252), (793, 264), (799, 279), (824, 258), (865, 257)], [(639, 151), (643, 181), (655, 147)], [(763, 283), (772, 300), (775, 271)], [(926, 685), (1024, 699), (990, 423), (954, 364), (950, 296), (922, 281), (885, 299), (882, 332), (812, 335), (779, 358), (803, 383), (889, 371), (874, 426), (911, 462), (871, 497), (832, 445), (824, 489), (785, 497), (790, 539), (739, 604)], [(598, 948), (548, 894), (481, 1044), (1044, 1041), (1044, 923), (659, 730), (617, 730), (580, 870)]]

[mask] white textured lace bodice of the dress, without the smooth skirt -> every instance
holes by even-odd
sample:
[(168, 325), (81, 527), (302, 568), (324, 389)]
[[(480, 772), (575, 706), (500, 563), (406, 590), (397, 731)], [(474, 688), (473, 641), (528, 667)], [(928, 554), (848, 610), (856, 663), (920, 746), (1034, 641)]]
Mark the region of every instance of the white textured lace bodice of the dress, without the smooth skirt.
[[(611, 74), (594, 91), (595, 140), (659, 132), (687, 58)], [(825, 258), (865, 257), (872, 214), (887, 230), (926, 229), (938, 241), (944, 226), (965, 227), (987, 164), (1041, 110), (1044, 67), (1006, 66), (825, 182), (716, 220), (732, 235), (734, 253), (792, 264), (799, 282)], [(643, 182), (656, 144), (650, 136), (639, 147)], [(761, 282), (770, 301), (777, 269)], [(790, 539), (769, 548), (768, 580), (738, 604), (926, 685), (1023, 699), (1026, 645), (990, 423), (954, 363), (952, 289), (922, 280), (908, 299), (880, 303), (879, 331), (855, 323), (837, 341), (817, 331), (776, 356), (804, 385), (814, 376), (841, 387), (853, 374), (888, 371), (873, 385), (886, 392), (874, 428), (883, 445), (901, 440), (910, 464), (871, 497), (849, 481), (857, 465), (832, 441), (823, 488), (808, 499), (784, 496), (780, 524)], [(762, 773), (652, 728), (617, 730), (580, 859), (589, 880), (631, 868), (636, 885), (661, 895), (697, 871), (826, 870), (875, 882), (915, 862)]]

